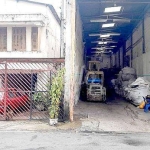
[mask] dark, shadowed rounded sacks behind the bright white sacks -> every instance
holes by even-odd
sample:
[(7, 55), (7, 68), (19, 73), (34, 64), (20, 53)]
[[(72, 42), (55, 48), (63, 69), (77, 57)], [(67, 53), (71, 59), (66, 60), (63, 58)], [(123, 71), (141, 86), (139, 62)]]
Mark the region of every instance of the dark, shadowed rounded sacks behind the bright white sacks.
[(136, 71), (133, 68), (125, 67), (115, 80), (115, 92), (125, 97), (125, 89), (136, 80)]

